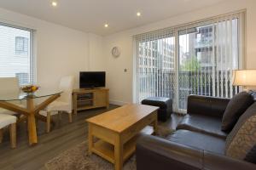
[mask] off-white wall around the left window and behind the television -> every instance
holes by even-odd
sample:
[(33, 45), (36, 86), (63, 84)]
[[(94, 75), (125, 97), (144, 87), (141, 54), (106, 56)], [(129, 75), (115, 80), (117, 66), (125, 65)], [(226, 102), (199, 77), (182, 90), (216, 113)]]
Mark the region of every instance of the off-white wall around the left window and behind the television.
[(36, 30), (37, 80), (41, 87), (57, 87), (62, 76), (73, 75), (78, 88), (79, 71), (103, 70), (102, 65), (96, 64), (102, 57), (102, 37), (3, 8), (0, 22)]

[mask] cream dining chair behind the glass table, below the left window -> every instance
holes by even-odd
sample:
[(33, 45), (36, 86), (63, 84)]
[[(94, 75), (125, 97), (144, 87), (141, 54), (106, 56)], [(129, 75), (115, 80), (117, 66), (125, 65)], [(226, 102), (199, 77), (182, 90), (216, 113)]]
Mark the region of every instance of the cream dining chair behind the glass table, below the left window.
[[(0, 77), (0, 84), (0, 94), (8, 94), (9, 92), (16, 92), (17, 94), (19, 94), (20, 92), (19, 80), (17, 77)], [(24, 107), (24, 105), (22, 105), (20, 101), (12, 102), (14, 102), (16, 105), (19, 105), (20, 107)], [(0, 108), (0, 113), (8, 115), (17, 114), (14, 111), (9, 111), (3, 108)]]

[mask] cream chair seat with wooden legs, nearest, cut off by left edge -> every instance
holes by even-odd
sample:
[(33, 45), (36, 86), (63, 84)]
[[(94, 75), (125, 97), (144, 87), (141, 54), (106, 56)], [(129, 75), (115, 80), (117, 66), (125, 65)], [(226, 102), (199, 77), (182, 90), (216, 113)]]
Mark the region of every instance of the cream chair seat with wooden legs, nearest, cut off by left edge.
[(16, 116), (0, 114), (0, 143), (3, 142), (3, 127), (9, 126), (11, 148), (16, 147)]

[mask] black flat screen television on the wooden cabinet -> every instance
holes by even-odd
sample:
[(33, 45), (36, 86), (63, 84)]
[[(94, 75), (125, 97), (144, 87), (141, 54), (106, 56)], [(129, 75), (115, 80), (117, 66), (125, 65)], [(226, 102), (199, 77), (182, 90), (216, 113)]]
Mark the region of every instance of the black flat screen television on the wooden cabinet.
[(103, 88), (105, 87), (105, 71), (81, 71), (79, 77), (80, 88)]

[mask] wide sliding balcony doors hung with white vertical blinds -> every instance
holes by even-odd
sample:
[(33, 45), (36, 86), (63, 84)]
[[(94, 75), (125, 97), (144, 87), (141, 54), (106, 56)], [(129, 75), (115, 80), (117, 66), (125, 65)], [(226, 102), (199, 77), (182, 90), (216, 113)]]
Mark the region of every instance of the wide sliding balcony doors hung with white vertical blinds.
[(189, 94), (231, 98), (239, 88), (232, 70), (242, 66), (244, 12), (137, 35), (137, 102), (169, 97), (184, 112)]

